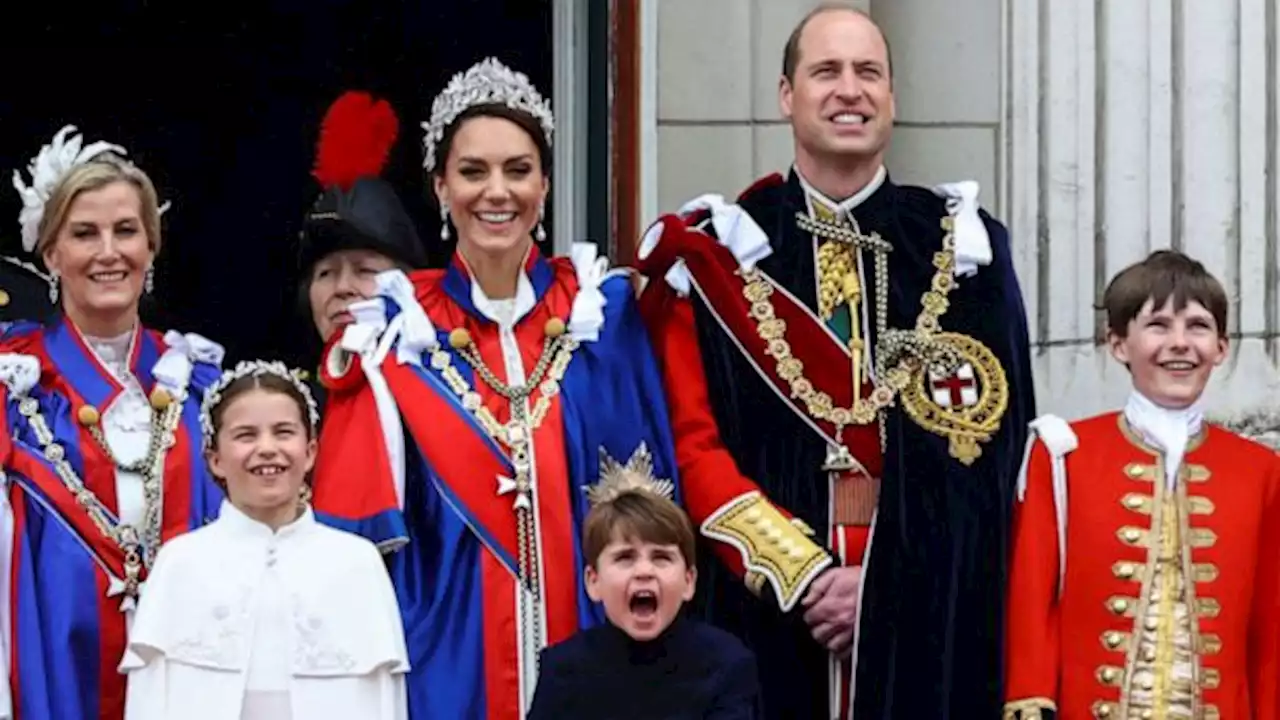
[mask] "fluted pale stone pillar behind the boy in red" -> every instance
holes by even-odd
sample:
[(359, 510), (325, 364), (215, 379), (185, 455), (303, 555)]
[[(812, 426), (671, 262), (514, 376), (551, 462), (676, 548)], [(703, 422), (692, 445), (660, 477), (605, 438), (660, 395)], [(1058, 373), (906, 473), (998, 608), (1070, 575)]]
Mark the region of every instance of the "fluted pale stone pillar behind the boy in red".
[(1175, 247), (1231, 300), (1211, 411), (1280, 425), (1275, 0), (1002, 4), (1001, 195), (1042, 409), (1124, 400), (1093, 306), (1124, 265)]

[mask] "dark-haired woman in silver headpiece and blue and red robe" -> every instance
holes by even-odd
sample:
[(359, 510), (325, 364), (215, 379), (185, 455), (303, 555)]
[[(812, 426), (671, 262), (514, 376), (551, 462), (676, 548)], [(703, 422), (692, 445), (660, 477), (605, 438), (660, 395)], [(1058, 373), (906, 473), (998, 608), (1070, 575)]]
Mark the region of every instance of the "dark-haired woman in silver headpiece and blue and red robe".
[(522, 717), (538, 653), (603, 619), (580, 573), (584, 488), (627, 466), (678, 493), (628, 277), (590, 243), (535, 246), (550, 142), (524, 74), (488, 59), (456, 76), (425, 167), (457, 252), (380, 274), (321, 366), (316, 511), (390, 553), (415, 720)]

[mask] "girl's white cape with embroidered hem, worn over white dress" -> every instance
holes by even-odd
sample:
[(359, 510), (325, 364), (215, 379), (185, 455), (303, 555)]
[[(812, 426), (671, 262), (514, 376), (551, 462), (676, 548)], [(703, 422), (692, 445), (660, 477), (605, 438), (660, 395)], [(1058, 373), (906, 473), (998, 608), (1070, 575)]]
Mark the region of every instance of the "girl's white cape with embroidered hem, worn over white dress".
[[(256, 635), (269, 571), (283, 600), (283, 618), (269, 621), (288, 626), (266, 633), (283, 647)], [(310, 510), (273, 533), (224, 503), (218, 520), (156, 557), (120, 664), (125, 720), (252, 716), (251, 656), (271, 652), (287, 667), (278, 697), (292, 720), (407, 717), (404, 634), (378, 550)]]

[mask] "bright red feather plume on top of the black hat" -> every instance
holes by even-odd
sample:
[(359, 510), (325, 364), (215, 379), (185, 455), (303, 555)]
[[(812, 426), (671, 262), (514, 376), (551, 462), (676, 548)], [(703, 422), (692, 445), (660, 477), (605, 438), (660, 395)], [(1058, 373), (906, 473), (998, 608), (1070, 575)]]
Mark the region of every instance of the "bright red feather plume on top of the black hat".
[(334, 100), (320, 124), (312, 177), (324, 187), (349, 190), (357, 179), (383, 173), (399, 135), (399, 118), (385, 100), (347, 91)]

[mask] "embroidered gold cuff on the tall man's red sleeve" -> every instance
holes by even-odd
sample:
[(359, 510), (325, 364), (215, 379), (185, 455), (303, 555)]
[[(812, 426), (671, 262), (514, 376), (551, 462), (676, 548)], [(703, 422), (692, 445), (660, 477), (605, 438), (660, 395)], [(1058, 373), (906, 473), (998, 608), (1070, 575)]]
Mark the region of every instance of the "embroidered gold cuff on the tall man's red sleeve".
[(774, 585), (783, 610), (790, 610), (813, 574), (831, 562), (822, 547), (759, 493), (730, 502), (701, 529), (708, 538), (736, 547), (746, 569)]

